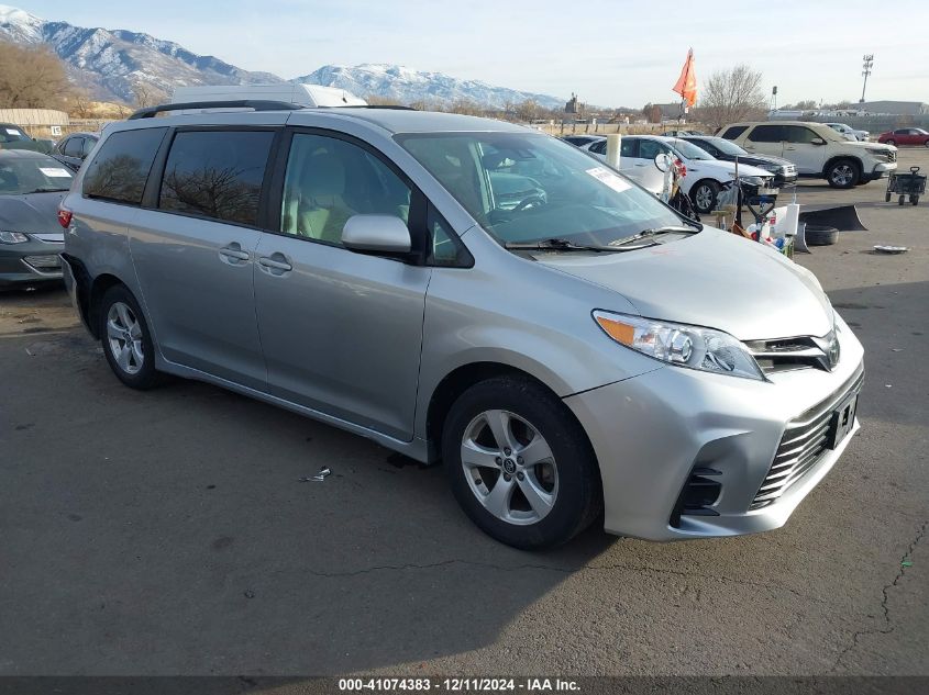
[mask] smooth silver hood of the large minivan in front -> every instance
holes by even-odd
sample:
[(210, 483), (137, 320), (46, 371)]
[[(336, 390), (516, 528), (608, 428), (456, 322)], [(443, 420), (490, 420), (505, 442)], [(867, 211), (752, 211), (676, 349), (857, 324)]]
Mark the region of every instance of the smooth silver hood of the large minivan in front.
[[(811, 272), (712, 227), (627, 254), (535, 258), (618, 292), (642, 316), (717, 328), (740, 340), (825, 336), (832, 328), (832, 306)], [(612, 309), (609, 299), (598, 309)]]

